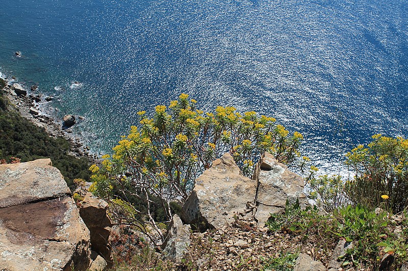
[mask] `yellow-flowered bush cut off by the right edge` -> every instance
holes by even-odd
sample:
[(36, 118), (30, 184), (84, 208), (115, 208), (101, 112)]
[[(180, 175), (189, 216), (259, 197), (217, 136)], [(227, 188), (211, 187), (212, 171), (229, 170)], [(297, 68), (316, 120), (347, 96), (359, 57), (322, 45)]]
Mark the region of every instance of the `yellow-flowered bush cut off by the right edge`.
[(401, 212), (408, 206), (408, 139), (372, 138), (367, 147), (359, 145), (346, 155), (355, 176), (346, 182), (345, 192), (354, 204), (387, 203), (394, 213)]

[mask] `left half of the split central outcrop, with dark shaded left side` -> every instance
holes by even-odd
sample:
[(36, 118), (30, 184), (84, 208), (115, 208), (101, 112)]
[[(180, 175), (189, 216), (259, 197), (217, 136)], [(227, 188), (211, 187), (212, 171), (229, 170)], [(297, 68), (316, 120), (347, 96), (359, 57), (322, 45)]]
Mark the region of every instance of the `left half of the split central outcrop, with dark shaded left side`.
[[(182, 208), (182, 219), (192, 227), (205, 230), (221, 228), (234, 221), (254, 201), (256, 182), (241, 174), (232, 156), (224, 154), (197, 179)], [(220, 215), (224, 214), (224, 215)]]

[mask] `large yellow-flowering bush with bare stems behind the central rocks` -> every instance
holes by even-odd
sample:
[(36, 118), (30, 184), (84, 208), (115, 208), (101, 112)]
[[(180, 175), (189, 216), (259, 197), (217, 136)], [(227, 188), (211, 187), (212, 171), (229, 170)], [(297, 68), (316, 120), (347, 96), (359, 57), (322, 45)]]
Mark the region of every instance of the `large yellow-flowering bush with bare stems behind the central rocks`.
[(186, 94), (168, 107), (156, 106), (155, 111), (151, 118), (139, 112), (139, 127), (131, 127), (113, 148), (112, 157), (104, 156), (102, 167), (94, 165), (91, 170), (96, 194), (108, 201), (118, 197), (132, 203), (133, 197), (144, 202), (139, 205), (145, 209), (134, 206), (134, 212), (159, 234), (152, 209), (161, 210), (169, 221), (170, 201), (183, 203), (195, 178), (221, 154), (230, 152), (246, 176), (265, 151), (283, 163), (299, 156), (300, 133), (289, 135), (274, 118), (253, 111), (240, 114), (234, 107), (217, 107), (214, 113), (204, 113)]

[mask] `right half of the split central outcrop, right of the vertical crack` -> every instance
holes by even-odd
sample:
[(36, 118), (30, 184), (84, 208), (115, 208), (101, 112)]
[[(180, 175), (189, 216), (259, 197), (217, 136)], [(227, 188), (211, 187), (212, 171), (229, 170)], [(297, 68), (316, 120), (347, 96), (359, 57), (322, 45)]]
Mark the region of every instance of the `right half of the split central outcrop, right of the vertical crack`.
[(258, 173), (258, 209), (255, 220), (260, 227), (265, 225), (270, 214), (283, 212), (287, 199), (291, 204), (299, 199), (301, 207), (308, 204), (303, 194), (303, 178), (289, 171), (284, 164), (278, 163), (273, 155), (265, 153), (255, 172)]

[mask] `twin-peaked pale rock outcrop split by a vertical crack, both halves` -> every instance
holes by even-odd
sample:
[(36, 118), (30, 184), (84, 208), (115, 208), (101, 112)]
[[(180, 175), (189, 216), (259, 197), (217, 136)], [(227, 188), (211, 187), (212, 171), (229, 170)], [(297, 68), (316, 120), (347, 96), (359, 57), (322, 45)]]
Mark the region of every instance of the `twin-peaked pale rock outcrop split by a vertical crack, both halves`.
[(301, 207), (308, 204), (303, 187), (303, 178), (269, 153), (256, 165), (252, 179), (225, 154), (197, 178), (182, 219), (193, 228), (218, 229), (230, 224), (234, 215), (245, 214), (264, 227), (271, 214), (284, 211), (286, 200), (293, 204), (298, 199)]

